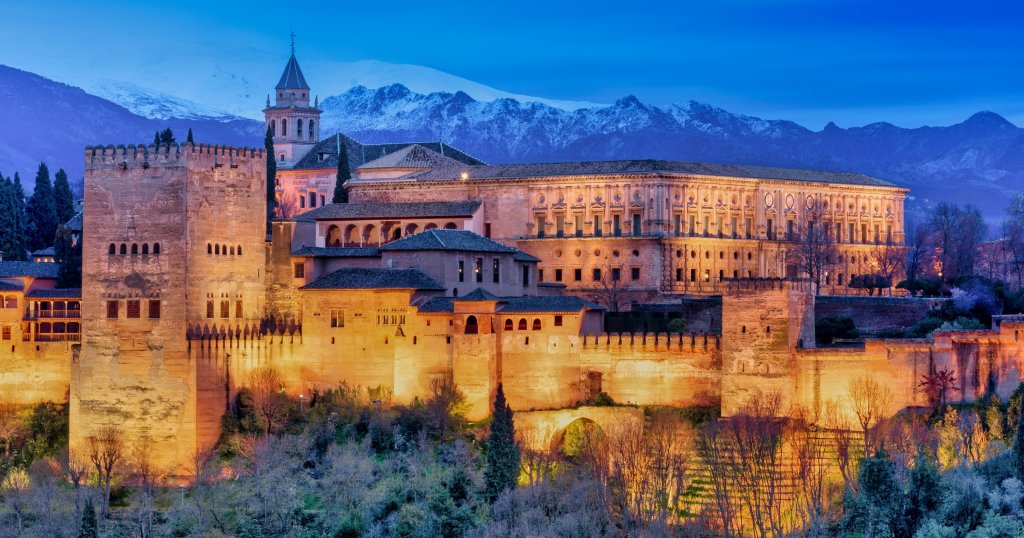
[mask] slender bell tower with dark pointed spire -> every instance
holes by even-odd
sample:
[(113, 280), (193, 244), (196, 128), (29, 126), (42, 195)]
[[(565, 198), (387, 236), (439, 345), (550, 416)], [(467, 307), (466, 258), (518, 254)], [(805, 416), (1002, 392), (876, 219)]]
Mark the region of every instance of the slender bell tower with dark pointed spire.
[(309, 85), (302, 76), (299, 61), (295, 59), (295, 34), (292, 37), (292, 56), (274, 87), (274, 104), (266, 97), (263, 115), (266, 126), (273, 131), (273, 156), (279, 168), (291, 168), (319, 140), (319, 98), (309, 106)]

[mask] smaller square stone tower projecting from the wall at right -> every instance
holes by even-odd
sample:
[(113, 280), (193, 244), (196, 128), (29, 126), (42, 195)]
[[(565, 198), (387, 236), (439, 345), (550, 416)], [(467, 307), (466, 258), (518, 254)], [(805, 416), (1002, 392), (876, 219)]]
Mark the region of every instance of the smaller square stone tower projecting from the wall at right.
[(722, 415), (736, 413), (757, 391), (795, 390), (797, 349), (814, 342), (810, 279), (727, 279), (722, 294)]

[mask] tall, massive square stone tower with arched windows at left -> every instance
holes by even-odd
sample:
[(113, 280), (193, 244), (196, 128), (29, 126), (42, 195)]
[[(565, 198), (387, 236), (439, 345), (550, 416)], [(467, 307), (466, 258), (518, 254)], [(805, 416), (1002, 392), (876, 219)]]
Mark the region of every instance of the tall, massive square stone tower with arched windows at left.
[(202, 370), (186, 335), (252, 326), (264, 314), (265, 166), (262, 150), (86, 150), (73, 449), (116, 426), (177, 473), (210, 442), (204, 431), (219, 415), (197, 398)]

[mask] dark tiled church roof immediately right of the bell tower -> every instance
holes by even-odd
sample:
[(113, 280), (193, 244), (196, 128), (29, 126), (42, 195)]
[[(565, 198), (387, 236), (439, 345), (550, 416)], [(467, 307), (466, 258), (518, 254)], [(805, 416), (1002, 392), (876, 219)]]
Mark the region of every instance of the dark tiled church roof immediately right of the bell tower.
[[(370, 161), (380, 159), (410, 146), (420, 146), (438, 155), (454, 159), (465, 165), (484, 164), (483, 161), (444, 142), (400, 142), (400, 143), (361, 143), (342, 133), (335, 133), (316, 142), (297, 163), (296, 169), (337, 169), (338, 147), (342, 146), (348, 152), (348, 167), (352, 170)], [(322, 160), (321, 155), (326, 157)]]

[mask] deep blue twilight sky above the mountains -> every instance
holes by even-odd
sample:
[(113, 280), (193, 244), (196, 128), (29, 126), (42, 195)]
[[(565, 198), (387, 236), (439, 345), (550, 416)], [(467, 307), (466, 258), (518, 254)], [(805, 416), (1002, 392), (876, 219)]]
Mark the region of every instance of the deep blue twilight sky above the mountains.
[[(1024, 125), (1020, 2), (3, 0), (0, 64), (74, 81), (126, 58), (265, 54), (430, 67), (504, 91), (690, 99), (811, 128), (944, 125), (980, 110)], [(126, 63), (129, 65), (130, 63)], [(127, 68), (126, 68), (127, 69)], [(308, 69), (307, 69), (308, 71)], [(61, 76), (67, 73), (67, 76)], [(313, 74), (306, 73), (310, 79)], [(164, 88), (174, 93), (173, 73)], [(126, 77), (127, 78), (127, 77)], [(313, 82), (313, 80), (310, 80)]]

